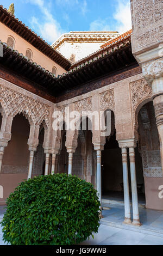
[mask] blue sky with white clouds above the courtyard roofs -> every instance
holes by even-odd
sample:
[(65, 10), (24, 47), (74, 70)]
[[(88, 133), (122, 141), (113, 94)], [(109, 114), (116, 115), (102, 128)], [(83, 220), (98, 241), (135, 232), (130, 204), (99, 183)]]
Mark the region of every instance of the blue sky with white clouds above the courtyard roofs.
[(14, 2), (15, 16), (52, 44), (70, 31), (118, 31), (131, 28), (129, 0), (0, 0)]

